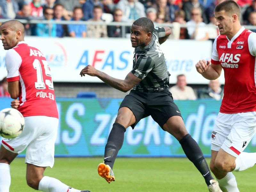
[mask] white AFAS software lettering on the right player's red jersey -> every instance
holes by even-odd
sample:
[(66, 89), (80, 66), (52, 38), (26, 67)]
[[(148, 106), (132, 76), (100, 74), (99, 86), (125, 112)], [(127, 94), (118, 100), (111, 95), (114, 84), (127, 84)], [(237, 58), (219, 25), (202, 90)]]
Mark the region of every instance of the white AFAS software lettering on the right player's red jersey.
[(222, 53), (220, 57), (220, 64), (224, 68), (238, 68), (238, 62), (240, 61), (241, 54)]

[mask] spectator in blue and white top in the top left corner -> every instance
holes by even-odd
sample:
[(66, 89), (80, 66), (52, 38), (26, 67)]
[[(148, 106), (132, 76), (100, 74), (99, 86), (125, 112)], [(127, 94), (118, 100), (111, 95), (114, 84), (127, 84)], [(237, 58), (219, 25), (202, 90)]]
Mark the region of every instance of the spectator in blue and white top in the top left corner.
[(0, 7), (2, 16), (5, 19), (14, 19), (16, 17), (16, 13), (19, 11), (19, 5), (16, 1), (1, 0)]

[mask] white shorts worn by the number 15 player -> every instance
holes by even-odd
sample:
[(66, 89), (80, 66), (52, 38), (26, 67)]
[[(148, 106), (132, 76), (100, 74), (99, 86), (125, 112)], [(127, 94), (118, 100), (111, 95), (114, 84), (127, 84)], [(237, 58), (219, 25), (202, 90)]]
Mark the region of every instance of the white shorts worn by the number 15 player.
[(25, 163), (39, 167), (51, 167), (54, 164), (54, 143), (57, 138), (59, 119), (47, 116), (29, 116), (20, 136), (3, 139), (7, 150), (20, 154), (27, 148)]

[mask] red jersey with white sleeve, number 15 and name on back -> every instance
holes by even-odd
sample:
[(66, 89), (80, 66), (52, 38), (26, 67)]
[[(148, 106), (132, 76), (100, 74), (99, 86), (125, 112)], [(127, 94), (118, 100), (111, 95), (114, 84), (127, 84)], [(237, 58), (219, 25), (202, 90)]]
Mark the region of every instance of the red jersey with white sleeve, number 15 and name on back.
[(7, 81), (19, 81), (23, 116), (58, 118), (52, 76), (44, 55), (24, 41), (6, 52)]

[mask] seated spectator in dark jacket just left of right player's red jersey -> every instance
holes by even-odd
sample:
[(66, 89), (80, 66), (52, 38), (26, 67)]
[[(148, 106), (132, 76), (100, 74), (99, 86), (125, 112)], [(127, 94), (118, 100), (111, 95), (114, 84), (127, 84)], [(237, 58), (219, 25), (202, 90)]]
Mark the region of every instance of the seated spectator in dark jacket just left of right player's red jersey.
[(207, 88), (202, 88), (197, 91), (199, 99), (215, 99), (223, 98), (223, 89), (220, 86), (219, 79), (210, 80)]

